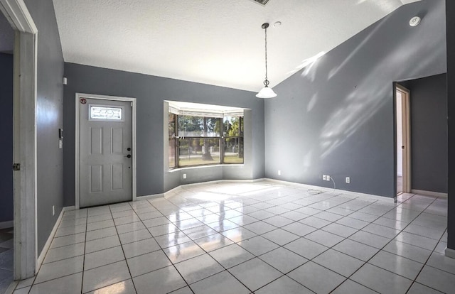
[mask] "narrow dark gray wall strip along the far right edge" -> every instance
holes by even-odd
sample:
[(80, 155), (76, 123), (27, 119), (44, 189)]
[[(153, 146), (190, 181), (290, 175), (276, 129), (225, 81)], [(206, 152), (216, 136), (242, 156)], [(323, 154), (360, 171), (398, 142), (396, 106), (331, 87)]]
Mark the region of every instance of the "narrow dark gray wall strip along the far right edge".
[(446, 1), (447, 28), (447, 116), (449, 134), (449, 208), (447, 248), (455, 250), (455, 1)]

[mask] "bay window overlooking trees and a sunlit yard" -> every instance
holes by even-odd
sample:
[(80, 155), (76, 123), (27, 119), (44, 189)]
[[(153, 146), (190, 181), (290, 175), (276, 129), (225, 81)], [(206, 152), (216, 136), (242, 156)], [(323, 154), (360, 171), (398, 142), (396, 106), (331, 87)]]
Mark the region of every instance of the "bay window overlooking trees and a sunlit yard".
[[(180, 105), (180, 104), (178, 104)], [(243, 109), (176, 107), (168, 113), (169, 169), (243, 164)], [(204, 107), (205, 106), (205, 107)], [(215, 107), (214, 107), (215, 108)], [(220, 107), (218, 107), (220, 108)], [(227, 107), (226, 107), (227, 108)]]

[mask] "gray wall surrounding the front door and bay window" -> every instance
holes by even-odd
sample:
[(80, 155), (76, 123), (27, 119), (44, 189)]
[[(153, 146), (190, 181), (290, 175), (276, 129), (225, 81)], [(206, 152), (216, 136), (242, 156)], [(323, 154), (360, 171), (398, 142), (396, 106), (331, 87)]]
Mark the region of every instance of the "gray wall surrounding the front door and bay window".
[[(180, 185), (164, 170), (164, 100), (252, 109), (252, 178), (264, 176), (264, 102), (255, 93), (164, 77), (65, 63), (65, 206), (74, 205), (75, 93), (137, 98), (137, 195), (155, 195)], [(216, 168), (215, 168), (216, 169)], [(208, 169), (210, 170), (210, 168)], [(164, 175), (166, 173), (166, 180)], [(211, 173), (211, 172), (209, 172)], [(198, 178), (197, 178), (198, 177)], [(220, 179), (200, 173), (191, 180)]]

